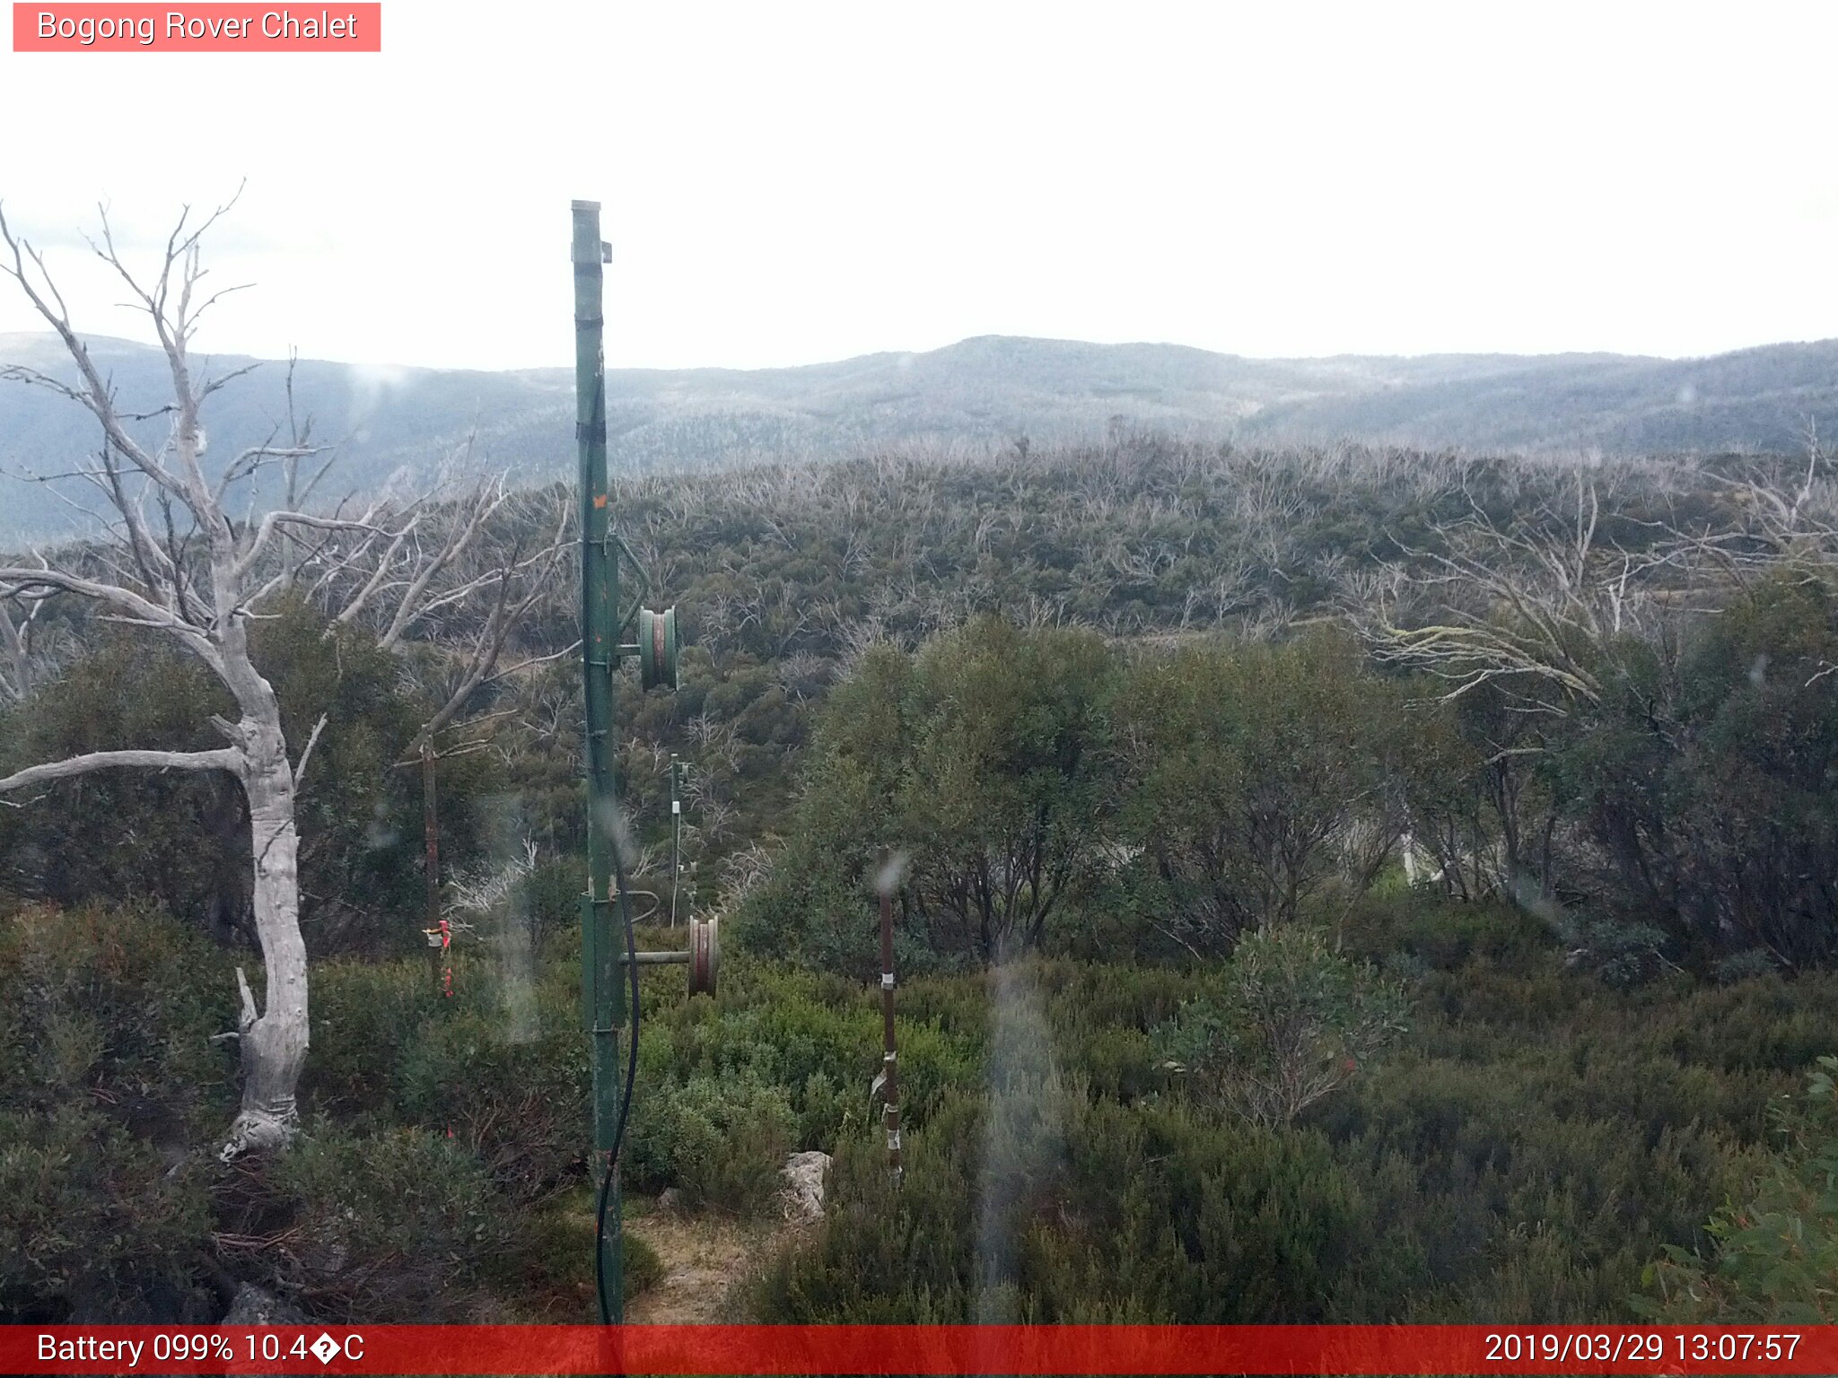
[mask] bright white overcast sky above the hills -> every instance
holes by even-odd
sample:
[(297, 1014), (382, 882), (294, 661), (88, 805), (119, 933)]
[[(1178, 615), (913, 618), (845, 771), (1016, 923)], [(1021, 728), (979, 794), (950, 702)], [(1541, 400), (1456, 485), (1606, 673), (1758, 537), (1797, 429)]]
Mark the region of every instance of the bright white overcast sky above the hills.
[(61, 246), (246, 175), (217, 351), (564, 364), (584, 197), (610, 364), (1704, 355), (1838, 334), (1834, 53), (1832, 4), (384, 0), (380, 55), (0, 51), (0, 198), (140, 336)]

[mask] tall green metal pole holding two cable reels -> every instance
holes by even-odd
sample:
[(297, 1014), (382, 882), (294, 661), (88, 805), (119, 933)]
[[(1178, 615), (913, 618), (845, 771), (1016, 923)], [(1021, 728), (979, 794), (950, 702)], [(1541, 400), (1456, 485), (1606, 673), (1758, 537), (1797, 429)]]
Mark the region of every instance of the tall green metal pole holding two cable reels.
[[(601, 318), (603, 265), (599, 202), (573, 202), (575, 274), (575, 445), (581, 457), (581, 671), (586, 693), (586, 895), (581, 897), (581, 1001), (594, 1058), (594, 1163), (612, 1172), (619, 1115), (625, 985), (612, 908), (612, 849), (618, 827), (614, 779), (612, 672), (619, 647), (619, 560), (607, 494), (607, 362)], [(619, 1183), (607, 1202), (607, 1292), (614, 1321), (625, 1319), (619, 1248)]]

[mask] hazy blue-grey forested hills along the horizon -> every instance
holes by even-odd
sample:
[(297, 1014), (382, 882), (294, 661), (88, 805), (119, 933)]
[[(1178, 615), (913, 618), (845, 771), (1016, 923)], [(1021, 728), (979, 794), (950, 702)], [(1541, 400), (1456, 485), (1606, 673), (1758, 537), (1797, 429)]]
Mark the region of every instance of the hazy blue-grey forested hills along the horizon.
[[(94, 340), (123, 406), (162, 404), (158, 351)], [(51, 336), (0, 334), (0, 364), (68, 377)], [(219, 358), (215, 371), (254, 360)], [(224, 461), (285, 417), (285, 364), (211, 399)], [(314, 435), (342, 443), (342, 489), (428, 472), (476, 430), (476, 461), (518, 480), (573, 463), (573, 371), (368, 369), (301, 360), (294, 391)], [(1838, 434), (1838, 340), (1700, 360), (1627, 355), (1239, 358), (1184, 345), (981, 336), (790, 369), (614, 369), (616, 465), (686, 469), (844, 457), (877, 445), (989, 448), (1020, 435), (1103, 435), (1114, 419), (1189, 437), (1459, 446), (1470, 450), (1711, 452), (1798, 448), (1805, 417)], [(143, 423), (149, 439), (160, 421)], [(39, 388), (0, 386), (0, 540), (55, 537), (75, 514), (17, 474), (62, 472), (96, 424)]]

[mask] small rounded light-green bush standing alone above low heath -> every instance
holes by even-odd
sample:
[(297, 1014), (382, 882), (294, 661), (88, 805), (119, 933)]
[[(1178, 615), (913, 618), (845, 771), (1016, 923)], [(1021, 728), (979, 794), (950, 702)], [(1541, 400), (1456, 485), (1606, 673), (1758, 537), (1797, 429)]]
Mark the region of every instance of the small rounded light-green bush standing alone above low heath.
[(1309, 928), (1244, 937), (1220, 1001), (1195, 1000), (1154, 1031), (1165, 1058), (1255, 1124), (1287, 1126), (1408, 1029), (1402, 992)]

